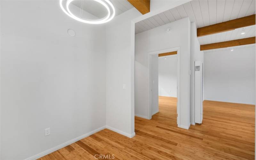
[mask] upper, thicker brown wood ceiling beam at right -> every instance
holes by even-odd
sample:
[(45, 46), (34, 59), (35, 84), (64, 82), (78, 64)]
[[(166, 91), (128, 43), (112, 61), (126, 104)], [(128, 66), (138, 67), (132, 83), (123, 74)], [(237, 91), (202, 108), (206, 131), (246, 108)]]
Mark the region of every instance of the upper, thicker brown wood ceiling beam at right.
[(229, 30), (234, 30), (236, 28), (242, 28), (252, 25), (255, 25), (255, 14), (202, 28), (197, 28), (197, 37), (225, 32)]

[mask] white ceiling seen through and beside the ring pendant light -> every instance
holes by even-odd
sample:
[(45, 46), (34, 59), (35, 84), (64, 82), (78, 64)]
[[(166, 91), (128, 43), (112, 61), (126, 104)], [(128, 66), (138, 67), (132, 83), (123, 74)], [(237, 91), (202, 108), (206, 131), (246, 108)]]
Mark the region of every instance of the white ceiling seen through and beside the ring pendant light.
[[(72, 2), (75, 6), (81, 8), (81, 2), (84, 1), (83, 10), (91, 13), (97, 18), (103, 18), (107, 15), (107, 10), (102, 5), (99, 5), (98, 2), (93, 0), (75, 0)], [(130, 4), (127, 0), (110, 0), (116, 9), (116, 16), (128, 11), (133, 8), (132, 4)]]

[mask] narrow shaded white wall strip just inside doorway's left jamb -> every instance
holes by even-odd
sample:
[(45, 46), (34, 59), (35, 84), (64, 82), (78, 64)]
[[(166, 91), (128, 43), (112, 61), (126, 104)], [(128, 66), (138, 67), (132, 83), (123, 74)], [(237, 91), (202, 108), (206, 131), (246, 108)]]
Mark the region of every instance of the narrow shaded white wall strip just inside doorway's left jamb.
[(151, 114), (156, 114), (158, 109), (158, 54), (151, 55), (150, 85), (151, 85)]

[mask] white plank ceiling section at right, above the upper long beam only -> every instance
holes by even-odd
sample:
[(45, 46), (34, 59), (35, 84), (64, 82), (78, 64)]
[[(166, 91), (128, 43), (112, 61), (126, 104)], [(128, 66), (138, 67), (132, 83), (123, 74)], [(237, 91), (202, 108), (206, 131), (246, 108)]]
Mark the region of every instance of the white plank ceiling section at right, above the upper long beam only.
[(185, 17), (201, 28), (252, 14), (255, 0), (193, 0), (136, 23), (135, 34)]

